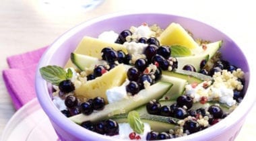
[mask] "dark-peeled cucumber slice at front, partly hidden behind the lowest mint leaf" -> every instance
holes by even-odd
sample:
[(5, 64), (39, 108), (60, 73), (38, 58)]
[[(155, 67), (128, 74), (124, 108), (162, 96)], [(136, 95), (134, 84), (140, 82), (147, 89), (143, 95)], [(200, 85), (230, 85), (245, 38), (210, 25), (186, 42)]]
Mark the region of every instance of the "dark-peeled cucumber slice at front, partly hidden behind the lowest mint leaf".
[[(118, 123), (127, 122), (127, 113), (121, 115), (115, 115), (111, 117)], [(150, 128), (156, 132), (168, 132), (170, 129), (174, 130), (175, 126), (178, 126), (179, 119), (164, 117), (160, 115), (150, 115), (147, 113), (140, 114), (140, 119), (144, 123), (150, 124)]]

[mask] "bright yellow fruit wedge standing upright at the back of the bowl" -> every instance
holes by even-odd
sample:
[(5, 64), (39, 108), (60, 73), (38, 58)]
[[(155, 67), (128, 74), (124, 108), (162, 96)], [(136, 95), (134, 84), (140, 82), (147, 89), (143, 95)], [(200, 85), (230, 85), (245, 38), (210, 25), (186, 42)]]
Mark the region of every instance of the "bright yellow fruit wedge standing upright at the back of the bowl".
[(199, 45), (193, 38), (187, 33), (187, 31), (179, 23), (170, 23), (170, 25), (162, 32), (158, 38), (160, 44), (181, 45), (191, 50), (199, 48)]

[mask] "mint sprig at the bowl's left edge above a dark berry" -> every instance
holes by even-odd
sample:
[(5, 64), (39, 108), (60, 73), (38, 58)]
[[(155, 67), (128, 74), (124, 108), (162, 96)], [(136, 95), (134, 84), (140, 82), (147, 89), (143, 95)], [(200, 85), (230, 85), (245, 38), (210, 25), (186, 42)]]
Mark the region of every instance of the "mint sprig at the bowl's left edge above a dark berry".
[(53, 85), (59, 85), (61, 81), (72, 78), (72, 71), (68, 68), (67, 72), (60, 66), (44, 66), (40, 68), (42, 78)]

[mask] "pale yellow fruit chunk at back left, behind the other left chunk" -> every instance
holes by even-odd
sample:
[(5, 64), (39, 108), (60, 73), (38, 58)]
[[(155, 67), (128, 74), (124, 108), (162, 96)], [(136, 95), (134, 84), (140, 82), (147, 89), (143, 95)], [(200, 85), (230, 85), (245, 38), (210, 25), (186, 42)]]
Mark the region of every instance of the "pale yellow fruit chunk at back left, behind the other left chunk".
[[(114, 50), (123, 50), (123, 52), (127, 53), (127, 50), (123, 44), (116, 44), (111, 42), (105, 42), (99, 40), (97, 38), (92, 38), (85, 36), (82, 41), (78, 44), (77, 48), (73, 51), (73, 53), (84, 54), (87, 56), (92, 56), (95, 58), (101, 58), (101, 50), (105, 47), (111, 47)], [(73, 66), (71, 60), (67, 61), (65, 68)]]

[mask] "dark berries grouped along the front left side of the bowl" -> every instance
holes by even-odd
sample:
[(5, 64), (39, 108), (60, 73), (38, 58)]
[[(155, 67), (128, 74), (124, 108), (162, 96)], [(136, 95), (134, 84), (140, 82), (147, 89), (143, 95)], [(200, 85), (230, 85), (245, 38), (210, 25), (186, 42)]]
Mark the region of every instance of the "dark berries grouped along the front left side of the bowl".
[[(77, 97), (67, 95), (67, 93), (70, 93), (75, 89), (70, 80), (61, 81), (59, 89), (60, 95), (65, 97), (65, 105), (67, 107), (67, 109), (62, 110), (61, 113), (67, 118), (79, 113), (90, 115), (94, 110), (100, 111), (104, 109), (106, 104), (102, 97), (95, 97), (94, 99), (88, 99), (88, 101), (79, 103)], [(96, 123), (86, 121), (83, 122), (81, 126), (93, 132), (97, 132), (98, 134), (106, 134), (108, 136), (119, 134), (119, 124), (113, 120), (103, 120)]]

